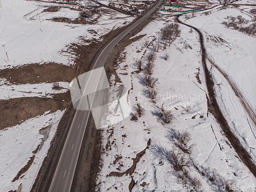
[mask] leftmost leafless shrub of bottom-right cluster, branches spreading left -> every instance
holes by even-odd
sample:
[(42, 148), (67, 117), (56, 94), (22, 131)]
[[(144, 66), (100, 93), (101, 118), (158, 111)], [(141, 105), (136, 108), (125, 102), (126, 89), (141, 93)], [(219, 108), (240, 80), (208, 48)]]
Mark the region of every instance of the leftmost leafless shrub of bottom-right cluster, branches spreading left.
[(186, 155), (180, 150), (173, 148), (171, 151), (168, 151), (155, 143), (151, 145), (151, 150), (157, 157), (172, 164), (177, 172), (182, 170), (183, 167), (189, 166), (190, 160), (186, 158)]

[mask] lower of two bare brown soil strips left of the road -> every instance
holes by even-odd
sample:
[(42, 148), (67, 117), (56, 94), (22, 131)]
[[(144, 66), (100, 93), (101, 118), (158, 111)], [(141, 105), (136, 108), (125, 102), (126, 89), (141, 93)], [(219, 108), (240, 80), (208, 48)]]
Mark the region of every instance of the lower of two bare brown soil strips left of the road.
[[(70, 92), (54, 94), (52, 98), (22, 97), (0, 100), (0, 130), (20, 124), (26, 119), (36, 117), (51, 110), (64, 110), (70, 102)], [(63, 101), (64, 100), (64, 101)]]

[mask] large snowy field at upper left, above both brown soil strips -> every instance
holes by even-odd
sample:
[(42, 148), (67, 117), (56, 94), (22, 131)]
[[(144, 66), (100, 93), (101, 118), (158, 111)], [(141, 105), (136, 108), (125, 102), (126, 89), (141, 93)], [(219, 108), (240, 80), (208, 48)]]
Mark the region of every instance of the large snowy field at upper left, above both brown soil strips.
[[(1, 47), (0, 69), (48, 61), (63, 65), (73, 64), (70, 55), (61, 54), (65, 46), (71, 42), (79, 43), (79, 36), (88, 40), (99, 39), (112, 29), (123, 26), (125, 21), (131, 22), (134, 19), (118, 13), (118, 19), (102, 15), (94, 25), (66, 24), (46, 19), (54, 16), (75, 18), (78, 16), (77, 11), (62, 8), (57, 13), (42, 12), (47, 8), (44, 7), (46, 3), (25, 0), (11, 0), (10, 3), (1, 1), (0, 5), (0, 43), (5, 45), (9, 56), (7, 61), (4, 48)], [(91, 34), (88, 30), (95, 30), (97, 34)]]

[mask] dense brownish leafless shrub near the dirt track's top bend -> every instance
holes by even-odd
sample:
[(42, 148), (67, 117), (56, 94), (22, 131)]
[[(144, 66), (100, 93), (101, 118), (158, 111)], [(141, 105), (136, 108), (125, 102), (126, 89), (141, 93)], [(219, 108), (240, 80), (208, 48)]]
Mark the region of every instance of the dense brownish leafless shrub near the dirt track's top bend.
[(166, 24), (161, 29), (161, 38), (166, 44), (169, 44), (169, 46), (179, 35), (180, 29), (177, 23)]

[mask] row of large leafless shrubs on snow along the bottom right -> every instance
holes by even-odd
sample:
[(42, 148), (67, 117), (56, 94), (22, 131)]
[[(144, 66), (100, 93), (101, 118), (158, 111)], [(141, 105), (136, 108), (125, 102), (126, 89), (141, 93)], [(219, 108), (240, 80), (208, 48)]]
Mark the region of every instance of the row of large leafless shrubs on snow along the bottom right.
[(174, 170), (176, 170), (175, 175), (177, 178), (181, 179), (183, 184), (190, 186), (190, 188), (192, 188), (190, 191), (201, 192), (204, 190), (201, 181), (198, 179), (199, 175), (191, 176), (188, 173), (188, 170), (190, 170), (189, 167), (195, 167), (195, 170), (207, 179), (207, 183), (213, 189), (226, 192), (238, 191), (234, 180), (223, 178), (215, 169), (205, 168), (203, 166), (197, 167), (197, 165), (195, 165), (189, 155), (193, 150), (194, 144), (191, 143), (191, 136), (187, 131), (169, 129), (165, 137), (170, 143), (174, 144), (172, 150), (166, 150), (166, 148), (155, 142), (151, 144), (150, 149), (154, 155), (161, 160), (166, 160), (173, 166)]

